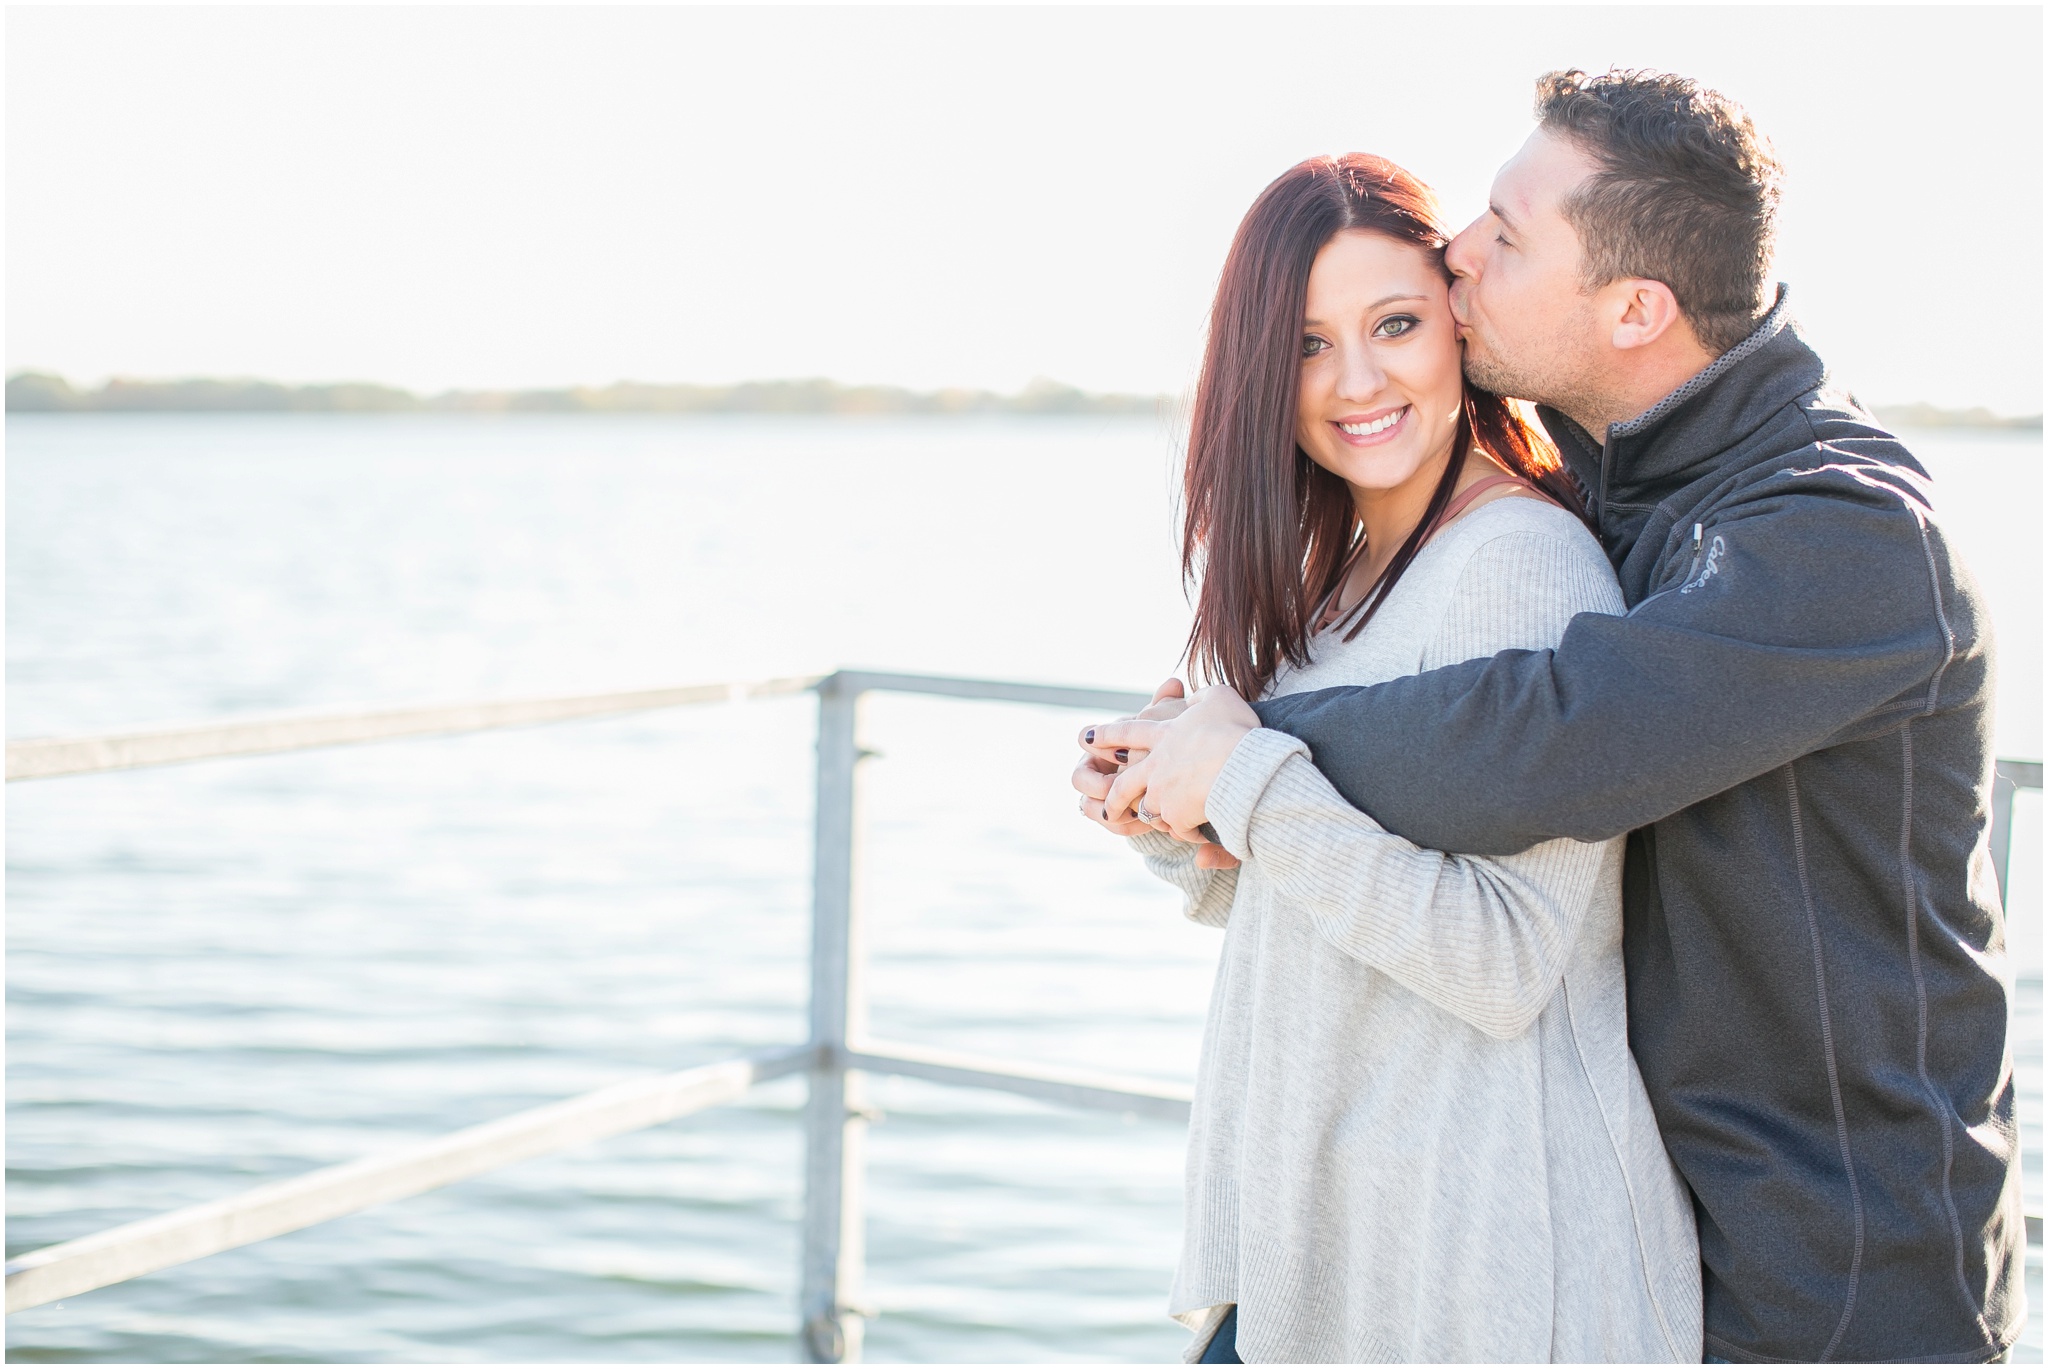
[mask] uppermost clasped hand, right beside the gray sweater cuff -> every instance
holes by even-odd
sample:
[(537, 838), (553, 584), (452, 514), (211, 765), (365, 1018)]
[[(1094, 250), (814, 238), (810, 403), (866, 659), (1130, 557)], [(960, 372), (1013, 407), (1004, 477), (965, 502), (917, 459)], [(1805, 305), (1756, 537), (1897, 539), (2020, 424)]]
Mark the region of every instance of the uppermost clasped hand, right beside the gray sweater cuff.
[(1260, 715), (1229, 684), (1198, 693), (1174, 721), (1106, 723), (1094, 730), (1094, 748), (1124, 752), (1130, 760), (1110, 781), (1102, 822), (1122, 824), (1137, 812), (1157, 818), (1184, 842), (1206, 842), (1208, 789)]

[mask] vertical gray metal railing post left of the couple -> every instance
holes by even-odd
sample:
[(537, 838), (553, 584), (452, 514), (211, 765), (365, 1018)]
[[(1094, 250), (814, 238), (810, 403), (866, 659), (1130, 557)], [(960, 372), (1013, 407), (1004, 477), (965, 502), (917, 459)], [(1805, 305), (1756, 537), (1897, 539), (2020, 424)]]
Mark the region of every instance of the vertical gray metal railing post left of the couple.
[(811, 1096), (805, 1105), (803, 1355), (813, 1365), (860, 1359), (854, 1310), (862, 1267), (860, 1072), (848, 1037), (866, 1021), (854, 912), (860, 689), (842, 672), (817, 684), (817, 830), (811, 891)]

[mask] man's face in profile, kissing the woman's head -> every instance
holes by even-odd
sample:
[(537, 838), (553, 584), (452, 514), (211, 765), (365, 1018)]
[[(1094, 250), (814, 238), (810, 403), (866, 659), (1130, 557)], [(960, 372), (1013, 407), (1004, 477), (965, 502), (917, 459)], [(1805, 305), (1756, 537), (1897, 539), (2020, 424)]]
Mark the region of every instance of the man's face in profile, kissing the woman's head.
[(1602, 328), (1579, 234), (1559, 209), (1593, 170), (1577, 146), (1536, 129), (1444, 254), (1464, 373), (1481, 389), (1567, 414), (1597, 408)]

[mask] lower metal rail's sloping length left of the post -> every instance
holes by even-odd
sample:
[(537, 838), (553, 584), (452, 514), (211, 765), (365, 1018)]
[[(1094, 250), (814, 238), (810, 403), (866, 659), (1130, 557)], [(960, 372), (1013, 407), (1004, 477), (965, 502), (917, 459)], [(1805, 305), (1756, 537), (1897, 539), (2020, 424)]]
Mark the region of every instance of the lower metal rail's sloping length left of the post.
[(393, 1154), (334, 1164), (215, 1203), (43, 1246), (6, 1262), (6, 1310), (14, 1314), (39, 1308), (461, 1178), (475, 1178), (520, 1160), (700, 1113), (731, 1103), (764, 1080), (809, 1070), (815, 1055), (809, 1045), (784, 1047), (678, 1074), (627, 1080), (451, 1131)]

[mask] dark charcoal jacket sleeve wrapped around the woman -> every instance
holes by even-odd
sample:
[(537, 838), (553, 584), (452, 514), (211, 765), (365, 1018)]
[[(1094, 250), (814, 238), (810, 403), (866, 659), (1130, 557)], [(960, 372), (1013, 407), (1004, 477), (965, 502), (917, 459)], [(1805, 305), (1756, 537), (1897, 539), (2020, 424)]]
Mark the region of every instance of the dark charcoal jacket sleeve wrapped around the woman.
[(1253, 707), (1389, 830), (1466, 853), (1618, 836), (1937, 707), (1960, 590), (1898, 490), (1776, 475), (1675, 562), (1554, 650)]

